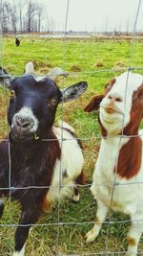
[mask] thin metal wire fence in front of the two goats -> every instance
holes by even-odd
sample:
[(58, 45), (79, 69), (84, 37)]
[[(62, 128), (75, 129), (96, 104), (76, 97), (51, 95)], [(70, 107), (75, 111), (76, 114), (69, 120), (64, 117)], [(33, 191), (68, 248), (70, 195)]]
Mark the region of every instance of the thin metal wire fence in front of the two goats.
[[(1, 1), (1, 6), (2, 6), (2, 1)], [(135, 36), (135, 32), (136, 32), (136, 24), (137, 24), (137, 19), (138, 19), (138, 15), (139, 15), (139, 11), (140, 11), (140, 6), (141, 6), (141, 0), (138, 1), (138, 3), (136, 2), (136, 7), (137, 7), (137, 10), (136, 10), (136, 15), (135, 15), (135, 19), (134, 19), (134, 26), (133, 26), (133, 38), (131, 40), (131, 47), (130, 47), (130, 57), (129, 57), (129, 66), (128, 67), (123, 67), (123, 68), (112, 68), (112, 69), (100, 69), (100, 70), (94, 70), (94, 71), (83, 71), (83, 72), (66, 72), (65, 71), (65, 66), (66, 66), (66, 43), (67, 43), (67, 25), (68, 25), (68, 18), (69, 18), (69, 10), (70, 10), (70, 0), (67, 0), (67, 12), (66, 12), (66, 18), (65, 18), (65, 32), (64, 32), (64, 36), (63, 36), (63, 70), (64, 70), (64, 75), (66, 76), (82, 76), (82, 75), (93, 75), (93, 74), (103, 74), (103, 73), (114, 73), (114, 72), (123, 72), (123, 71), (127, 71), (128, 72), (128, 76), (127, 76), (127, 82), (126, 82), (126, 92), (125, 92), (125, 98), (127, 97), (127, 88), (128, 88), (128, 78), (129, 78), (129, 72), (130, 71), (133, 71), (133, 70), (139, 70), (139, 71), (142, 71), (143, 70), (143, 67), (142, 66), (133, 66), (133, 45), (134, 45), (134, 36)], [(1, 15), (2, 17), (2, 15)], [(1, 22), (2, 24), (2, 22)], [(3, 52), (4, 52), (4, 45), (3, 45), (3, 35), (2, 35), (2, 28), (1, 28), (1, 61), (0, 61), (0, 64), (1, 66), (3, 66)], [(63, 82), (62, 82), (62, 88), (65, 88), (65, 78), (63, 77)], [(4, 103), (5, 103), (5, 109), (6, 109), (6, 113), (8, 112), (8, 99), (7, 99), (7, 92), (6, 92), (6, 86), (5, 86), (5, 81), (4, 81), (4, 84), (3, 84), (3, 95), (4, 95)], [(62, 107), (61, 107), (61, 119), (62, 119), (62, 127), (63, 127), (63, 120), (64, 120), (64, 105), (62, 103)], [(124, 110), (126, 109), (126, 102), (125, 102), (125, 105), (124, 105)], [(131, 137), (137, 137), (139, 135), (132, 135), (132, 136), (126, 136), (123, 134), (123, 128), (124, 128), (124, 119), (123, 119), (123, 126), (122, 126), (122, 134), (120, 136), (116, 136), (119, 138), (119, 144), (118, 144), (118, 152), (117, 152), (117, 155), (116, 155), (116, 165), (115, 165), (115, 175), (114, 175), (114, 180), (113, 180), (113, 184), (111, 183), (107, 183), (107, 184), (99, 184), (99, 183), (95, 183), (94, 185), (95, 186), (101, 186), (101, 187), (104, 187), (104, 186), (111, 186), (111, 189), (112, 189), (112, 197), (111, 197), (111, 208), (112, 208), (112, 198), (113, 198), (113, 193), (114, 193), (114, 188), (115, 186), (126, 186), (127, 183), (126, 182), (118, 182), (116, 180), (116, 172), (117, 172), (117, 163), (118, 163), (118, 156), (119, 156), (119, 149), (120, 149), (120, 145), (121, 145), (121, 140), (123, 138), (131, 138)], [(9, 127), (8, 127), (8, 133), (9, 133)], [(143, 136), (143, 133), (140, 135), (140, 136)], [(112, 136), (111, 136), (112, 137)], [(113, 136), (115, 137), (115, 136)], [(81, 141), (83, 142), (88, 142), (92, 139), (99, 139), (101, 140), (102, 139), (102, 136), (101, 135), (96, 135), (94, 134), (91, 137), (88, 136), (88, 132), (87, 132), (87, 137), (78, 137), (77, 139), (80, 139)], [(70, 139), (65, 139), (64, 136), (63, 136), (63, 133), (61, 134), (61, 150), (62, 150), (62, 147), (63, 147), (63, 142), (65, 140), (70, 140)], [(71, 139), (72, 140), (72, 139)], [(1, 141), (9, 141), (9, 139), (7, 138), (0, 138), (0, 142)], [(50, 142), (50, 141), (53, 141), (53, 140), (50, 140), (50, 139), (44, 139), (45, 142)], [(9, 143), (9, 161), (10, 161), (10, 143)], [(11, 161), (10, 161), (11, 162)], [(61, 163), (62, 164), (62, 163)], [(60, 172), (59, 172), (59, 180), (60, 179), (60, 176), (61, 176), (61, 171), (62, 170), (62, 167), (60, 166)], [(10, 171), (11, 171), (11, 167), (10, 167)], [(4, 227), (17, 227), (17, 226), (31, 226), (31, 224), (28, 224), (28, 225), (22, 225), (22, 224), (18, 224), (18, 223), (15, 223), (15, 221), (13, 221), (13, 213), (12, 213), (12, 202), (11, 202), (11, 191), (13, 190), (17, 190), (17, 188), (11, 186), (11, 181), (10, 181), (10, 176), (11, 176), (11, 173), (9, 171), (9, 187), (8, 188), (0, 188), (0, 191), (1, 190), (10, 190), (10, 197), (9, 197), (9, 223), (3, 223), (1, 222), (0, 223), (0, 227), (4, 228)], [(128, 185), (134, 185), (134, 184), (143, 184), (143, 181), (138, 181), (138, 182), (128, 182)], [(81, 189), (89, 189), (89, 187), (91, 187), (92, 185), (92, 181), (91, 182), (88, 182), (87, 184), (84, 184), (84, 185), (79, 185), (79, 187), (81, 187)], [(59, 186), (58, 186), (58, 189), (59, 189), (59, 196), (60, 196), (60, 193), (61, 193), (61, 188), (63, 187), (64, 185), (61, 184), (61, 181), (59, 183)], [(51, 186), (42, 186), (42, 187), (39, 187), (39, 186), (27, 186), (27, 187), (19, 187), (18, 190), (28, 190), (28, 189), (43, 189), (43, 188), (50, 188)], [(57, 189), (57, 188), (55, 188)], [(132, 189), (132, 188), (131, 188)], [(81, 190), (81, 194), (82, 194), (82, 190)], [(59, 197), (60, 198), (60, 197)], [(109, 214), (109, 217), (108, 217), (108, 220), (107, 221), (104, 221), (104, 224), (106, 225), (106, 234), (104, 234), (104, 246), (102, 246), (102, 249), (97, 249), (98, 252), (95, 252), (95, 251), (91, 251), (91, 249), (89, 248), (89, 251), (88, 251), (88, 247), (86, 247), (87, 245), (84, 244), (84, 247), (83, 247), (83, 251), (78, 253), (75, 253), (75, 250), (74, 250), (74, 247), (72, 247), (72, 242), (70, 240), (69, 242), (69, 247), (71, 248), (69, 251), (70, 251), (70, 254), (69, 252), (66, 252), (66, 253), (61, 253), (61, 239), (60, 239), (60, 236), (61, 236), (61, 227), (64, 227), (64, 226), (72, 226), (72, 228), (74, 226), (77, 226), (77, 228), (79, 226), (85, 226), (85, 225), (88, 225), (90, 226), (91, 224), (94, 223), (94, 221), (80, 221), (80, 214), (79, 214), (79, 219), (77, 219), (76, 221), (63, 221), (63, 217), (61, 216), (61, 211), (62, 211), (62, 202), (61, 200), (59, 199), (58, 200), (58, 204), (57, 204), (57, 218), (56, 221), (51, 221), (51, 222), (38, 222), (38, 223), (35, 223), (35, 224), (32, 224), (32, 226), (35, 226), (35, 227), (56, 227), (56, 239), (54, 238), (54, 243), (56, 244), (56, 251), (52, 254), (52, 255), (56, 255), (56, 256), (73, 256), (73, 255), (76, 255), (76, 256), (84, 256), (84, 255), (124, 255), (125, 254), (125, 250), (124, 248), (122, 247), (121, 249), (119, 250), (114, 250), (112, 251), (111, 248), (109, 248), (109, 240), (110, 240), (110, 231), (111, 231), (111, 226), (113, 224), (126, 224), (126, 223), (131, 223), (131, 220), (128, 218), (126, 220), (112, 220), (112, 212)], [(87, 206), (88, 207), (88, 206)], [(94, 207), (94, 205), (93, 205)], [(93, 208), (91, 209), (91, 206), (90, 206), (90, 209), (88, 211), (93, 211)], [(89, 219), (91, 220), (91, 219)], [(138, 221), (139, 223), (141, 221), (143, 221), (143, 218), (141, 220), (132, 220), (132, 221)], [(86, 228), (85, 228), (86, 229)], [(104, 227), (103, 227), (104, 229)], [(33, 231), (34, 232), (34, 231)], [(48, 235), (49, 235), (49, 232), (48, 232)], [(102, 236), (102, 234), (100, 235)], [(84, 240), (84, 238), (83, 238)], [(76, 241), (78, 243), (78, 239)], [(94, 242), (95, 243), (95, 242)], [(8, 255), (11, 255), (12, 254), (12, 251), (13, 251), (13, 248), (12, 248), (12, 243), (10, 243), (10, 254)], [(86, 248), (86, 252), (85, 252), (85, 248)], [(112, 248), (113, 249), (113, 248)], [(66, 250), (66, 249), (65, 249)], [(93, 248), (92, 248), (93, 250)], [(100, 250), (100, 251), (99, 251)], [(28, 254), (29, 255), (29, 254)], [(36, 254), (34, 254), (36, 255)], [(45, 256), (51, 256), (50, 253), (48, 252), (45, 252), (45, 254), (38, 254), (38, 255), (45, 255)], [(143, 248), (142, 248), (142, 251), (138, 251), (138, 255), (143, 255)], [(2, 255), (4, 256), (4, 255)]]

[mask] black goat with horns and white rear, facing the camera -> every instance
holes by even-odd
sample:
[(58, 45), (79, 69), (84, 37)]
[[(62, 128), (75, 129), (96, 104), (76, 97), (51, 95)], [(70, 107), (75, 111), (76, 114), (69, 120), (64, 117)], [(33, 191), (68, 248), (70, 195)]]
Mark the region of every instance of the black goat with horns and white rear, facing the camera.
[(13, 256), (24, 255), (30, 228), (41, 216), (47, 200), (71, 191), (73, 198), (79, 199), (75, 184), (82, 183), (82, 149), (68, 124), (52, 125), (57, 105), (74, 100), (86, 88), (85, 81), (61, 91), (47, 76), (10, 78), (10, 156), (9, 143), (2, 142), (0, 215), (4, 210), (3, 197), (10, 195), (21, 203)]

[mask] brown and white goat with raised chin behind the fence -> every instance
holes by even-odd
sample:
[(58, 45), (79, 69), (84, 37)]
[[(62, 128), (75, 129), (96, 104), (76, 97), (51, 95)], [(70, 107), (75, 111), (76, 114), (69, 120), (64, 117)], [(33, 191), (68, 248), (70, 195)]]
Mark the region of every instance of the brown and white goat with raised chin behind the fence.
[(106, 84), (105, 93), (94, 96), (85, 107), (99, 107), (102, 140), (92, 176), (92, 195), (97, 200), (95, 223), (86, 234), (91, 243), (110, 210), (131, 217), (126, 255), (137, 255), (143, 232), (143, 76), (123, 73)]

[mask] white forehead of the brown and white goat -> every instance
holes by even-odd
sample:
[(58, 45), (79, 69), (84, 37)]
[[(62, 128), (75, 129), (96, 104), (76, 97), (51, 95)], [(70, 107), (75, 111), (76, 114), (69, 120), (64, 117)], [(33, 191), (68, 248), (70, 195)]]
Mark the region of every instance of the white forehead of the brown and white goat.
[(143, 83), (143, 76), (139, 74), (133, 74), (125, 72), (121, 76), (116, 77), (112, 86), (112, 91), (125, 93), (127, 91), (133, 94), (134, 91), (140, 87)]

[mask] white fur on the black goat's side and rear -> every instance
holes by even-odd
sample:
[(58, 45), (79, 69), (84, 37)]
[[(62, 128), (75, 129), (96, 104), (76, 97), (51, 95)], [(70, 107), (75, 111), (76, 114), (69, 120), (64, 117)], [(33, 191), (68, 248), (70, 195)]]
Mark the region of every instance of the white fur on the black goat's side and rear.
[[(61, 148), (61, 159), (56, 161), (53, 170), (51, 188), (47, 195), (49, 201), (72, 195), (75, 186), (74, 180), (80, 175), (84, 164), (83, 153), (77, 140), (68, 130), (64, 129), (70, 128), (73, 131), (73, 128), (65, 122), (62, 126), (63, 128), (53, 128)], [(61, 140), (62, 137), (63, 141)], [(65, 170), (67, 170), (67, 177), (63, 178)]]

